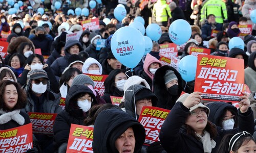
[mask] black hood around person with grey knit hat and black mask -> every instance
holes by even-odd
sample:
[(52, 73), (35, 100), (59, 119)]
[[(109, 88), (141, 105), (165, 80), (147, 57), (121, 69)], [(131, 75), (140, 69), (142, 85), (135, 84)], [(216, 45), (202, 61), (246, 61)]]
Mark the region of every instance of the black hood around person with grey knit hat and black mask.
[[(166, 70), (174, 71), (174, 73), (178, 79), (179, 89), (178, 89), (177, 96), (170, 95), (165, 86), (164, 75), (166, 73)], [(183, 89), (181, 75), (175, 68), (173, 68), (171, 66), (167, 66), (167, 65), (162, 66), (155, 73), (155, 76), (153, 79), (153, 87), (154, 87), (154, 93), (156, 94), (156, 96), (158, 98), (157, 107), (170, 110), (175, 105), (175, 102), (179, 98), (179, 96), (182, 92), (182, 89)]]

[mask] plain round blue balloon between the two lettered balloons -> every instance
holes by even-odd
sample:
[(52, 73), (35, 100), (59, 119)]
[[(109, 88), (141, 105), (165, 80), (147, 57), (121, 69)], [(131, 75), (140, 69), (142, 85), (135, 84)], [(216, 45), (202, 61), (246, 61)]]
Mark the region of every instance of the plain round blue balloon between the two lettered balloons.
[(160, 26), (156, 23), (151, 23), (146, 27), (146, 35), (153, 41), (158, 41), (162, 35)]

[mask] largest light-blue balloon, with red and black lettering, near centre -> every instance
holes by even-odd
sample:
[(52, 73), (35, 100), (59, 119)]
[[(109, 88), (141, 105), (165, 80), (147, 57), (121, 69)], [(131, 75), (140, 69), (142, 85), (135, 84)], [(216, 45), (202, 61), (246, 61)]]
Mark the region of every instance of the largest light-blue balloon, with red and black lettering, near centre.
[(142, 34), (132, 27), (119, 28), (113, 34), (110, 46), (115, 58), (132, 69), (139, 64), (145, 51)]

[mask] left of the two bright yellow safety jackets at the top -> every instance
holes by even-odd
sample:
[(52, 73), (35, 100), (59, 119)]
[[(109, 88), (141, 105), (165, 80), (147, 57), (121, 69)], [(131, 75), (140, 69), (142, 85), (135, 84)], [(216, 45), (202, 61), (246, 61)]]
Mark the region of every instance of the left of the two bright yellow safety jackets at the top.
[(157, 0), (157, 3), (153, 6), (153, 13), (156, 17), (156, 22), (158, 25), (167, 26), (169, 18), (172, 18), (170, 15), (170, 8), (168, 4), (166, 4), (166, 0)]

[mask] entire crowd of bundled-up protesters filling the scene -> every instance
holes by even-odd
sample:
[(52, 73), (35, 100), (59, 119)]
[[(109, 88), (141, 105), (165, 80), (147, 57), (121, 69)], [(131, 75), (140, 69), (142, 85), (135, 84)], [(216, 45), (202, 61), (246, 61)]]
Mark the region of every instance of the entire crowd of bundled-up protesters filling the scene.
[[(91, 9), (88, 1), (23, 1), (15, 12), (11, 0), (0, 2), (0, 46), (9, 43), (5, 58), (0, 56), (0, 130), (30, 123), (28, 112), (57, 114), (53, 135), (33, 134), (28, 152), (66, 152), (71, 124), (94, 127), (95, 153), (256, 152), (256, 25), (250, 19), (255, 0), (127, 0), (121, 21), (114, 15), (117, 0), (97, 1)], [(59, 9), (55, 2), (61, 3)], [(87, 16), (68, 11), (81, 5), (90, 9)], [(157, 23), (162, 35), (131, 72), (115, 58), (111, 39), (137, 16), (145, 28)], [(99, 29), (84, 30), (81, 21), (94, 18)], [(214, 56), (244, 60), (244, 82), (251, 93), (242, 92), (238, 109), (202, 100), (202, 93), (194, 91), (195, 80), (185, 82), (176, 68), (159, 60), (159, 45), (173, 43), (168, 28), (177, 19), (187, 20), (192, 31), (177, 47), (180, 59), (191, 47), (201, 47)], [(240, 36), (238, 25), (250, 24), (245, 47), (229, 48), (229, 40)], [(81, 32), (79, 39), (67, 40), (76, 32)], [(105, 39), (100, 50), (99, 39)], [(108, 75), (103, 94), (86, 74)], [(121, 104), (113, 105), (111, 96), (122, 97)], [(66, 98), (65, 109), (60, 98)], [(146, 132), (138, 121), (143, 106), (171, 110), (160, 141), (150, 146), (143, 145)]]

